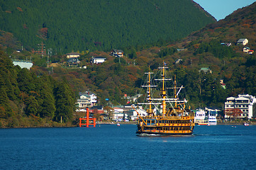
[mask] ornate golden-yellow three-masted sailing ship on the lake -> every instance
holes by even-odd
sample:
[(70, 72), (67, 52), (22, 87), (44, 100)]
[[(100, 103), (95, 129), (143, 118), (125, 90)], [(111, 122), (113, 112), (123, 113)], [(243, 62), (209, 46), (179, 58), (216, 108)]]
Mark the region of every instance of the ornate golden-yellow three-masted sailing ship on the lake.
[[(161, 98), (152, 98), (152, 88), (157, 88), (157, 85), (153, 85), (151, 82), (150, 75), (152, 72), (148, 72), (148, 85), (147, 87), (147, 98), (148, 102), (138, 103), (139, 105), (148, 105), (147, 115), (141, 116), (138, 114), (138, 130), (137, 135), (192, 135), (194, 130), (194, 112), (187, 108), (187, 100), (180, 98), (179, 93), (182, 91), (183, 86), (177, 87), (176, 77), (174, 79), (167, 79), (165, 77), (165, 62), (160, 74), (160, 81), (158, 86), (158, 94)], [(173, 86), (167, 87), (166, 81), (172, 81)], [(172, 98), (169, 98), (169, 94), (172, 91)], [(154, 95), (156, 96), (156, 95)], [(134, 108), (135, 109), (135, 108)], [(136, 111), (136, 110), (135, 110)], [(158, 111), (158, 113), (157, 113)]]

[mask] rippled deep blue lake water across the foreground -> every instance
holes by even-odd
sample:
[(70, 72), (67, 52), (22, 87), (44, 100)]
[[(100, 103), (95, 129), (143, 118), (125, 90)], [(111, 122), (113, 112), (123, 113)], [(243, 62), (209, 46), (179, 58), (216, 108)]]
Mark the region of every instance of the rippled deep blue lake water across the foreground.
[(256, 169), (256, 126), (138, 137), (136, 125), (0, 129), (0, 169)]

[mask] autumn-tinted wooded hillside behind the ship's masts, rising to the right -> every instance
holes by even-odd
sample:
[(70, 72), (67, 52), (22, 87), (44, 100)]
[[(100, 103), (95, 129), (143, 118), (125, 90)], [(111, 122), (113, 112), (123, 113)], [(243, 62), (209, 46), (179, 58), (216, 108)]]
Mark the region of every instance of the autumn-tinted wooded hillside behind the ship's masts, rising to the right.
[[(246, 46), (255, 50), (255, 5), (241, 8), (226, 20), (191, 33), (184, 40), (143, 50), (134, 49), (133, 57), (126, 55), (120, 62), (118, 58), (109, 56), (109, 53), (91, 52), (81, 57), (87, 69), (56, 67), (52, 76), (68, 77), (67, 80), (77, 91), (95, 91), (99, 104), (106, 105), (105, 98), (109, 98), (113, 104), (125, 104), (122, 96), (139, 93), (140, 80), (143, 79), (143, 72), (148, 72), (148, 66), (152, 72), (157, 72), (157, 67), (164, 60), (172, 75), (177, 75), (179, 84), (186, 87), (187, 99), (192, 108), (221, 108), (229, 96), (243, 93), (256, 95), (255, 53), (249, 55), (243, 52), (245, 46), (236, 45), (240, 38), (247, 38), (249, 43)], [(228, 18), (237, 19), (230, 21)], [(232, 45), (221, 45), (223, 42)], [(107, 61), (90, 64), (91, 56), (106, 57)], [(174, 64), (176, 60), (182, 62)], [(199, 72), (202, 67), (210, 69), (212, 73)], [(221, 87), (221, 79), (226, 89)]]

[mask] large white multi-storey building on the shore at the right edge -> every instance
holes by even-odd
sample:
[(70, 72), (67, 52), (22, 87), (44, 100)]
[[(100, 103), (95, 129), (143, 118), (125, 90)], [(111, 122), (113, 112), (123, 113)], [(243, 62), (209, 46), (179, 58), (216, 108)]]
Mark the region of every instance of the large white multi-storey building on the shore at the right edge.
[[(252, 118), (253, 107), (256, 106), (255, 96), (240, 94), (238, 97), (229, 97), (225, 102), (225, 118)], [(255, 112), (255, 111), (254, 111)]]

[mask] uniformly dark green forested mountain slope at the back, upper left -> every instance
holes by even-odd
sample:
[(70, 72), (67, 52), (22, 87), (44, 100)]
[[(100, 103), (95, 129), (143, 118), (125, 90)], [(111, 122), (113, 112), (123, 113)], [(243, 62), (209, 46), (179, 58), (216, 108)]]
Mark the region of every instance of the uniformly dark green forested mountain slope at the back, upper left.
[(215, 21), (191, 0), (0, 0), (0, 30), (54, 54), (178, 40)]

